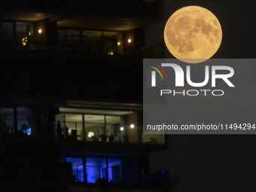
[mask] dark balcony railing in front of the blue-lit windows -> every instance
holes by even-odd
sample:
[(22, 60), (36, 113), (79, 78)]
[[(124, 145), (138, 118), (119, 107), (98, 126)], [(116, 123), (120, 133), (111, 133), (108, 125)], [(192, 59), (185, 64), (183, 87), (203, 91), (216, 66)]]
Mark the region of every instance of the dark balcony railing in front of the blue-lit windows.
[[(89, 167), (90, 169), (91, 167)], [(169, 187), (169, 170), (167, 169), (145, 169), (138, 170), (130, 167), (130, 172), (134, 175), (127, 174), (122, 177), (121, 174), (115, 176), (115, 180), (106, 181), (105, 175), (102, 178), (96, 178), (95, 182), (88, 181), (88, 176), (84, 176), (83, 172), (84, 166), (72, 166), (72, 181), (73, 187), (77, 189), (87, 188), (87, 187), (101, 187), (102, 185), (108, 188), (116, 189), (151, 189), (152, 191), (166, 190)], [(88, 169), (88, 168), (87, 168)], [(93, 169), (102, 169), (99, 166), (93, 166)], [(111, 172), (111, 168), (108, 168)], [(121, 172), (121, 169), (118, 170)], [(90, 172), (92, 173), (92, 172)], [(123, 179), (122, 179), (123, 178)], [(136, 179), (135, 179), (136, 178)]]

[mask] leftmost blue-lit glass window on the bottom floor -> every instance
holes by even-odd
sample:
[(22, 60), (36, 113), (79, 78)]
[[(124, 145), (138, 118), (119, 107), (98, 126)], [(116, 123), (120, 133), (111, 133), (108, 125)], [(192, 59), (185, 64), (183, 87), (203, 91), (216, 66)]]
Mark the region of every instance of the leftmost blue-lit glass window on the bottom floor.
[(84, 166), (82, 158), (67, 157), (66, 162), (72, 163), (72, 175), (75, 175), (75, 181), (84, 182)]

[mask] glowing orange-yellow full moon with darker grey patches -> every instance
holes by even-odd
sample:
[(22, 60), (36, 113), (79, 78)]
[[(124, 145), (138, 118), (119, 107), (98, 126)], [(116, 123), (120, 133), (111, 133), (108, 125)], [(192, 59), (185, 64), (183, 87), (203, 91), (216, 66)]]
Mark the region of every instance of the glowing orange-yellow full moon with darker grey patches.
[(203, 62), (221, 45), (221, 24), (211, 11), (187, 6), (175, 11), (166, 22), (164, 41), (169, 52), (184, 62)]

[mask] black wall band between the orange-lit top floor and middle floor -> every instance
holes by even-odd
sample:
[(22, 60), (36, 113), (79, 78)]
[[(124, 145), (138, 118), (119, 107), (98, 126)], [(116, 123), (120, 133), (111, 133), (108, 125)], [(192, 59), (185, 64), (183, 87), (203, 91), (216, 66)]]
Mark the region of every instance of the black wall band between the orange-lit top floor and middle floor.
[(142, 59), (11, 51), (0, 53), (3, 99), (12, 95), (142, 102)]

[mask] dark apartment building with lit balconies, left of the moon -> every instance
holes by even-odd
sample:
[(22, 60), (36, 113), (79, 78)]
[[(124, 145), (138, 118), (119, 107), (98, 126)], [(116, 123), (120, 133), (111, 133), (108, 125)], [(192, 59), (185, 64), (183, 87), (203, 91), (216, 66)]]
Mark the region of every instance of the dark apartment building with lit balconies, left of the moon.
[(145, 26), (162, 6), (1, 2), (3, 191), (167, 190), (148, 163), (166, 137), (142, 132), (142, 58), (162, 54)]

